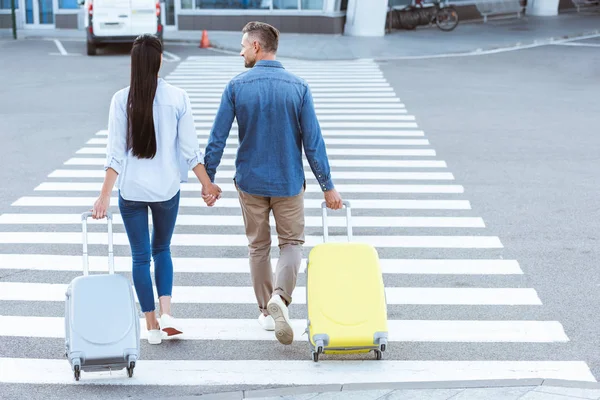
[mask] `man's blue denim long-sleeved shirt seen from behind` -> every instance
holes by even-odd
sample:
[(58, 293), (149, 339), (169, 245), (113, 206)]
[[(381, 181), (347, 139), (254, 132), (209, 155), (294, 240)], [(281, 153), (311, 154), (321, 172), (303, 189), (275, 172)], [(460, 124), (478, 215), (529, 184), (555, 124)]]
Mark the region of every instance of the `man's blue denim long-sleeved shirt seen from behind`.
[(204, 157), (213, 182), (234, 118), (240, 190), (266, 197), (300, 194), (302, 146), (321, 190), (334, 187), (310, 89), (279, 61), (261, 60), (227, 84)]

